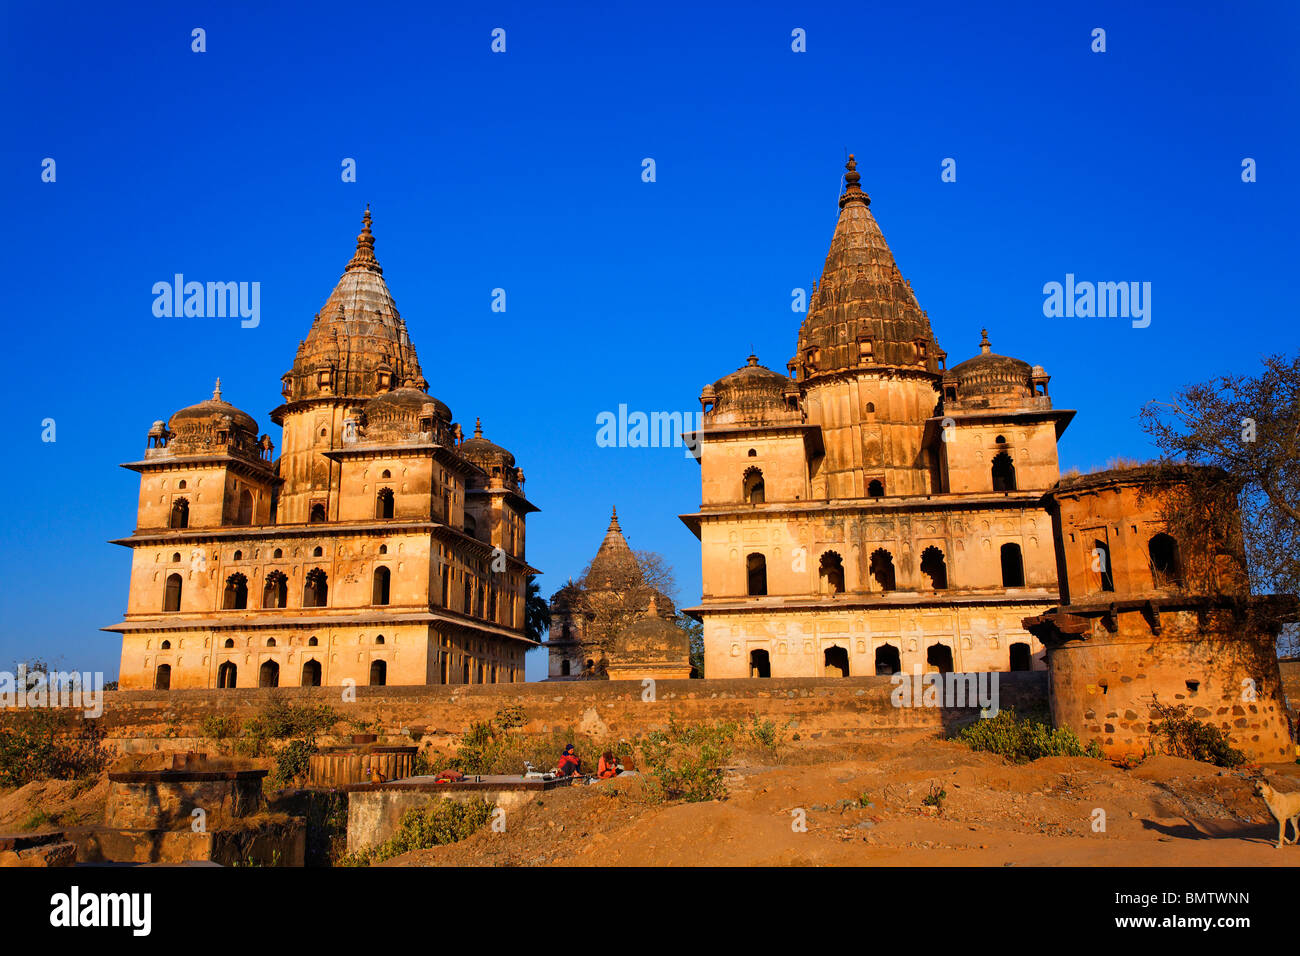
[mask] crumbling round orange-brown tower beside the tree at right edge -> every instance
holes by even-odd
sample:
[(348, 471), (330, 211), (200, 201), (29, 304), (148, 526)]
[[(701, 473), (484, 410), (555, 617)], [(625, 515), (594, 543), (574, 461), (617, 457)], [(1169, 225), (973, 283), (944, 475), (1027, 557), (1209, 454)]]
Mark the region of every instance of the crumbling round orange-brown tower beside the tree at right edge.
[(1252, 596), (1244, 561), (1183, 548), (1153, 473), (1063, 479), (1048, 496), (1061, 604), (1024, 626), (1046, 645), (1053, 723), (1123, 757), (1149, 748), (1153, 701), (1186, 705), (1252, 760), (1290, 760), (1275, 645), (1295, 602)]

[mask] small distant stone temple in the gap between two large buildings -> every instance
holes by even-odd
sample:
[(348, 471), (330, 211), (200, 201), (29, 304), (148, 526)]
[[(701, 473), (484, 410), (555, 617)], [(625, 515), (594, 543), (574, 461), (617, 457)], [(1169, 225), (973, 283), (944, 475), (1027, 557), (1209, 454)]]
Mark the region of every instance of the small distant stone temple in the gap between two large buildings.
[(668, 680), (690, 676), (690, 640), (672, 600), (646, 581), (615, 509), (578, 583), (551, 597), (549, 679)]

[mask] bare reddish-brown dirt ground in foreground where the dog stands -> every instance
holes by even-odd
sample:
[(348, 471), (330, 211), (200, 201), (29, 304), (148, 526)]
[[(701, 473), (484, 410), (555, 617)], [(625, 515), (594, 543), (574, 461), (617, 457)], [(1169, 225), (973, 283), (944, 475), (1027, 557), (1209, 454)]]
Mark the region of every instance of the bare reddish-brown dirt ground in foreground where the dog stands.
[[(1265, 770), (1279, 790), (1300, 790), (1300, 766)], [(511, 812), (504, 832), (384, 865), (1300, 865), (1300, 845), (1275, 848), (1257, 773), (1174, 757), (1132, 770), (1087, 757), (1015, 765), (900, 735), (823, 762), (793, 753), (776, 766), (734, 766), (728, 797), (712, 803), (654, 804), (634, 777), (556, 790)], [(932, 787), (944, 792), (937, 808), (923, 804)], [(1098, 809), (1104, 831), (1093, 830)]]

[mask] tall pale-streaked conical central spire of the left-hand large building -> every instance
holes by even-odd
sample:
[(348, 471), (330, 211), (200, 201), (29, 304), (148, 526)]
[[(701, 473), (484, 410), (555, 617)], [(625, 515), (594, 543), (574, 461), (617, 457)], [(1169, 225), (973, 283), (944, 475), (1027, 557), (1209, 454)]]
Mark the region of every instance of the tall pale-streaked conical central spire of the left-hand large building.
[[(374, 258), (367, 206), (356, 251), (299, 343), (294, 367), (283, 376), (283, 394), (286, 403), (367, 399), (400, 386), (422, 392), (428, 382)], [(272, 414), (277, 424), (281, 411)]]

